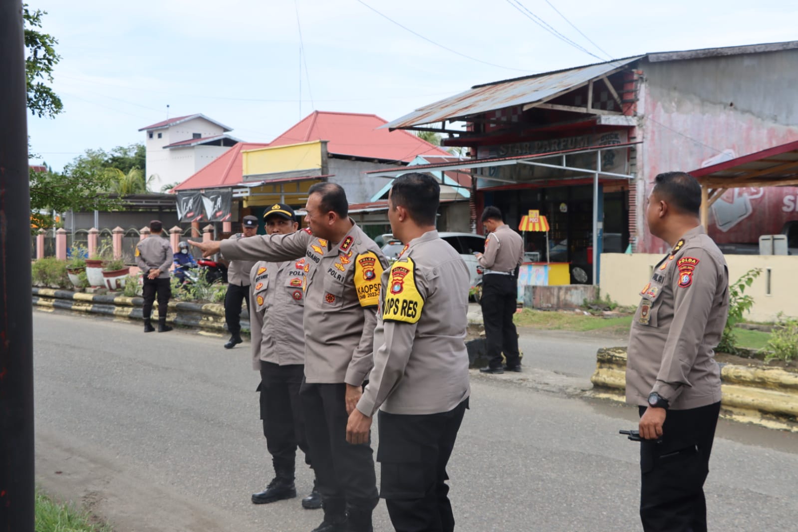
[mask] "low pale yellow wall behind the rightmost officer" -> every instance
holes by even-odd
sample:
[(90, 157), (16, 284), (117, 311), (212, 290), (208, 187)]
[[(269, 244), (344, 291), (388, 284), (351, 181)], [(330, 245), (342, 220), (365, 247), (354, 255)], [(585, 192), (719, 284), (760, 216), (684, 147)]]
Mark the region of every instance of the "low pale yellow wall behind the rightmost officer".
[[(603, 253), (599, 278), (601, 297), (609, 296), (621, 305), (638, 305), (640, 290), (651, 277), (661, 254)], [(753, 268), (762, 274), (745, 290), (754, 299), (746, 316), (750, 321), (774, 321), (780, 312), (798, 317), (798, 257), (783, 255), (726, 255), (729, 280), (736, 281)], [(770, 269), (770, 294), (767, 291)]]

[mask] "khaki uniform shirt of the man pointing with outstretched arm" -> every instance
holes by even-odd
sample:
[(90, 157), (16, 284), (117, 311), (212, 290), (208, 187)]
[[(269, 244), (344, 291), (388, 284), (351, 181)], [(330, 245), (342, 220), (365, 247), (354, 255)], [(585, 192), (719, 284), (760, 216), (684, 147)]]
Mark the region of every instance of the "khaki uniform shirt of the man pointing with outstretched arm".
[(223, 240), (220, 245), (225, 258), (304, 258), (305, 380), (363, 384), (373, 365), (380, 276), (387, 261), (357, 224), (336, 244), (303, 229)]

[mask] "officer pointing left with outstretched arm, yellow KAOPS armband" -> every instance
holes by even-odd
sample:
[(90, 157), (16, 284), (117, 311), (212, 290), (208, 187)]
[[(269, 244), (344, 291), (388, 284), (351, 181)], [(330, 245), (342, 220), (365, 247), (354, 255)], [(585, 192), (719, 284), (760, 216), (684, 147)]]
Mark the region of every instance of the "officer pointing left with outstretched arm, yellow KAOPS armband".
[(377, 480), (369, 443), (346, 442), (346, 421), (373, 366), (380, 276), (377, 244), (349, 218), (343, 188), (310, 187), (308, 228), (223, 242), (189, 242), (204, 256), (282, 262), (305, 258), (305, 381), (300, 388), (310, 456), (322, 494), (316, 532), (370, 532)]

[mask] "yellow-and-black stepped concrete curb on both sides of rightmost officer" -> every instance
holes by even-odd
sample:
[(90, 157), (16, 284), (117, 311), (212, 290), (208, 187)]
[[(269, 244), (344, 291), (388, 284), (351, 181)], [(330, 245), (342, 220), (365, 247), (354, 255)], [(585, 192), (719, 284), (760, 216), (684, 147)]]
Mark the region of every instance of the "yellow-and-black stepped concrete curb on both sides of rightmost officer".
[[(599, 349), (591, 382), (591, 395), (624, 400), (626, 348)], [(721, 364), (721, 391), (721, 416), (798, 432), (798, 372)]]

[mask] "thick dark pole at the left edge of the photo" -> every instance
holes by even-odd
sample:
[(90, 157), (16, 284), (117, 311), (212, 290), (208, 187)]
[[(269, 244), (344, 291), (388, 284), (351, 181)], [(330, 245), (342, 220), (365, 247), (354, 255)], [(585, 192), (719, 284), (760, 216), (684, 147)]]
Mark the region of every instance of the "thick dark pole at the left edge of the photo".
[(0, 530), (34, 532), (34, 349), (22, 0), (0, 0), (0, 102)]

